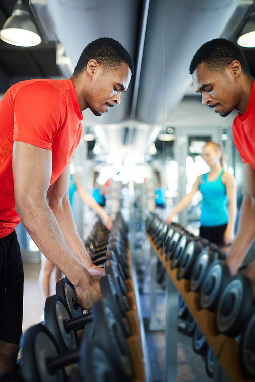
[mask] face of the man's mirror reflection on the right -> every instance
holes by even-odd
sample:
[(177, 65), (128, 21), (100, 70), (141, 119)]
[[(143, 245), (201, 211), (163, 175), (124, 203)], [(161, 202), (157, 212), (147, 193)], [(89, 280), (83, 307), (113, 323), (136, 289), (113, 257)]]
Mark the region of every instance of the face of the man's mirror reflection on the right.
[(230, 114), (239, 102), (238, 91), (228, 67), (225, 73), (209, 70), (205, 63), (192, 74), (193, 84), (202, 95), (202, 103), (211, 107), (221, 117)]

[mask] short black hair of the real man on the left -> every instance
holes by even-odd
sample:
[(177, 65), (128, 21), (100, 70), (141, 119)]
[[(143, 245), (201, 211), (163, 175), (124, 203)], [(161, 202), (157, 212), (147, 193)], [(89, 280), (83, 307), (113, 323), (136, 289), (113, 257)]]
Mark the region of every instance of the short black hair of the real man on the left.
[(77, 62), (73, 75), (81, 74), (91, 59), (95, 59), (106, 70), (116, 69), (124, 61), (129, 66), (131, 73), (134, 73), (134, 64), (130, 54), (127, 53), (120, 42), (110, 37), (101, 37), (86, 46)]

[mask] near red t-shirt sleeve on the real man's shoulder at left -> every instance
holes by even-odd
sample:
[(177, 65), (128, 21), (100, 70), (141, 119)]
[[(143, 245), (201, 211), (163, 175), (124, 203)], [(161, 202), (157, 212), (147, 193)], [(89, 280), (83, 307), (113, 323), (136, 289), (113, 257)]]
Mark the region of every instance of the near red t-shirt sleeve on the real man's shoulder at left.
[(66, 102), (61, 90), (46, 81), (24, 85), (14, 100), (13, 140), (51, 149), (65, 119)]

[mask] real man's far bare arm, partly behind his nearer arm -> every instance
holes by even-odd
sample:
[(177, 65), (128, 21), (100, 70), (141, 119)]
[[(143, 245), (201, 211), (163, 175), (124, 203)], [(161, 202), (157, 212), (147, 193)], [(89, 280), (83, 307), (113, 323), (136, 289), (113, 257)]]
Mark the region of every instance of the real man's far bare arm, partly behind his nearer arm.
[(57, 222), (63, 232), (68, 247), (80, 260), (92, 276), (103, 276), (104, 269), (95, 266), (77, 232), (73, 218), (72, 207), (69, 201), (70, 165), (68, 165), (59, 178), (49, 187), (47, 200)]

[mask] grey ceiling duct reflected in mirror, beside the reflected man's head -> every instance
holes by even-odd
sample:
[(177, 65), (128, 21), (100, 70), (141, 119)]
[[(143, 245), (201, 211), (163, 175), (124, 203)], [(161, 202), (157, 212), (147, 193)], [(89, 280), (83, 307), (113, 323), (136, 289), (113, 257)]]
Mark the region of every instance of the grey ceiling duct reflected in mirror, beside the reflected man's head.
[(239, 0), (150, 0), (136, 118), (162, 122), (190, 85), (189, 64), (220, 37)]

